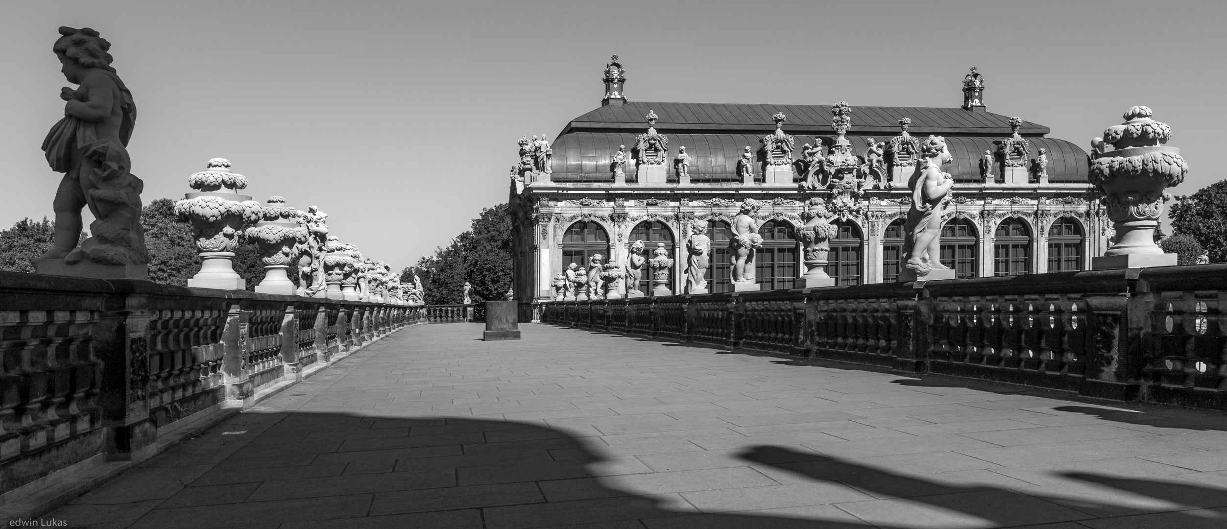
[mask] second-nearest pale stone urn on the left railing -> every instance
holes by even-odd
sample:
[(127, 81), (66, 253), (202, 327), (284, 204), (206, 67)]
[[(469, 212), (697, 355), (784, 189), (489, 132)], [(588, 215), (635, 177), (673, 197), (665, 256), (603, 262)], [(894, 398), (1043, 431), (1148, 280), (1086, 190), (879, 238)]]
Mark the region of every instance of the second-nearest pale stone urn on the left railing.
[(290, 263), (307, 244), (307, 228), (298, 223), (298, 210), (286, 205), (286, 199), (271, 196), (260, 209), (260, 221), (244, 233), (244, 238), (260, 247), (264, 279), (256, 292), (293, 295), (297, 287), (290, 281)]

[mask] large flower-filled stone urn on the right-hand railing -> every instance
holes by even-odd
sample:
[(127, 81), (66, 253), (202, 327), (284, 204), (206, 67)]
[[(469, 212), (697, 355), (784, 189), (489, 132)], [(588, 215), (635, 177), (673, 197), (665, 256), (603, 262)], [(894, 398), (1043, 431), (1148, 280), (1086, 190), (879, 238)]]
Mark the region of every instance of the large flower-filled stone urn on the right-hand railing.
[(1117, 233), (1112, 248), (1091, 259), (1092, 270), (1177, 264), (1177, 254), (1155, 244), (1155, 230), (1171, 199), (1164, 190), (1184, 182), (1189, 164), (1179, 149), (1164, 145), (1172, 128), (1151, 115), (1150, 108), (1133, 107), (1125, 123), (1091, 141), (1088, 178), (1104, 194), (1102, 204)]

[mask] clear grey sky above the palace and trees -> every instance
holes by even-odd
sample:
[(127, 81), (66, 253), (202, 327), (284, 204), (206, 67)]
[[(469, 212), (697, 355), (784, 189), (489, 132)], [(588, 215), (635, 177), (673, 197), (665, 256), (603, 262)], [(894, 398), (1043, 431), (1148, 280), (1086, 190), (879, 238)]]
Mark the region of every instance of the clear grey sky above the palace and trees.
[(1191, 168), (1172, 193), (1191, 194), (1227, 177), (1223, 21), (1223, 1), (0, 0), (0, 226), (53, 217), (59, 26), (112, 43), (146, 203), (228, 158), (256, 200), (317, 205), (400, 269), (507, 200), (521, 135), (600, 106), (611, 54), (632, 101), (847, 101), (854, 128), (856, 106), (960, 106), (975, 65), (989, 112), (1085, 150), (1144, 104)]

